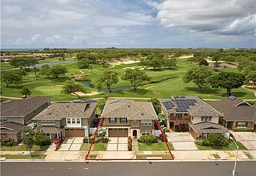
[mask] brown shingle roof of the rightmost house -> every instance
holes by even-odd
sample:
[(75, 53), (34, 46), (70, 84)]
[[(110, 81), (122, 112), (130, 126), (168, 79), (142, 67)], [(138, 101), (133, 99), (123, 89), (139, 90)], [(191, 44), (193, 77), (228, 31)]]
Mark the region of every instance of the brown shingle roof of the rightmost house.
[(222, 112), (226, 121), (256, 121), (256, 108), (242, 99), (225, 98), (207, 103)]

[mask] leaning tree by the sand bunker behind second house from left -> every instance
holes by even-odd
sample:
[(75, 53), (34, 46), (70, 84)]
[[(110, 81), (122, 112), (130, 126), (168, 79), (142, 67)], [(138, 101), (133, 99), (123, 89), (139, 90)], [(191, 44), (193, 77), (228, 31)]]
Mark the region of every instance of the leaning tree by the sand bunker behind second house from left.
[(85, 86), (83, 86), (81, 83), (74, 81), (73, 79), (66, 81), (63, 89), (65, 94), (75, 94), (78, 96), (78, 98), (80, 98), (80, 96), (76, 92), (86, 91)]

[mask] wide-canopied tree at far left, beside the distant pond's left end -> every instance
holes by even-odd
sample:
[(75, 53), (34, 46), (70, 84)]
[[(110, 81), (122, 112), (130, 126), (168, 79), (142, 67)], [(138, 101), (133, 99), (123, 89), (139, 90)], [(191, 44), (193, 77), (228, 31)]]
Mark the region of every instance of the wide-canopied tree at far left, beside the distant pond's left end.
[(38, 64), (38, 59), (33, 57), (16, 57), (10, 60), (10, 65), (15, 68), (29, 70), (31, 67)]

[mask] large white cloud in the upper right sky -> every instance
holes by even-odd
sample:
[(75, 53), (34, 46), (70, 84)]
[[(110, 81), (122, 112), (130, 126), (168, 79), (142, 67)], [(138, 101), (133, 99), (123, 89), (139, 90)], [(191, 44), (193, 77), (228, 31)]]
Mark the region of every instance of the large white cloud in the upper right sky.
[(158, 9), (157, 18), (167, 28), (213, 34), (254, 33), (254, 0), (165, 0), (149, 4)]

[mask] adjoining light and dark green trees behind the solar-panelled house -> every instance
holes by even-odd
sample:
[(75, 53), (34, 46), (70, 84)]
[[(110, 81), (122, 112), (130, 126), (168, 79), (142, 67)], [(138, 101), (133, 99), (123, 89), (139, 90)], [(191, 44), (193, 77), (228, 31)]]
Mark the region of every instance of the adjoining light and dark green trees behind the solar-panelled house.
[(192, 68), (183, 77), (184, 82), (194, 82), (201, 90), (207, 86), (225, 88), (228, 96), (232, 89), (241, 87), (245, 80), (243, 74), (229, 72), (216, 73), (206, 66)]

